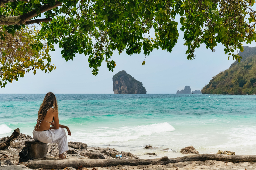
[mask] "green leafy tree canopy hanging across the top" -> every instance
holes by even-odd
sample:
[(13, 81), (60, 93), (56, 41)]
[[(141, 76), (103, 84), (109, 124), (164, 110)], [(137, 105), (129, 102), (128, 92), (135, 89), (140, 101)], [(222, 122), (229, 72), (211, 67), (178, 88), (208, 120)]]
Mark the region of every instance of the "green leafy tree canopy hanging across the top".
[[(119, 54), (125, 51), (128, 55), (140, 52), (149, 55), (159, 48), (171, 52), (179, 37), (178, 22), (184, 32), (188, 59), (194, 59), (194, 51), (201, 44), (214, 51), (214, 47), (222, 43), (225, 53), (240, 61), (234, 50), (243, 51), (242, 42), (256, 40), (256, 12), (252, 8), (255, 0), (10, 1), (0, 0), (1, 40), (5, 41), (7, 33), (22, 34), (28, 29), (26, 25), (41, 23), (38, 31), (24, 37), (32, 42), (24, 47), (36, 50), (33, 56), (39, 56), (45, 49), (54, 51), (54, 45), (58, 44), (66, 61), (77, 53), (84, 54), (88, 56), (93, 75), (98, 73), (104, 60), (113, 71), (116, 63), (111, 56), (114, 50)], [(0, 57), (4, 58), (6, 46), (0, 47)], [(46, 67), (37, 68), (51, 71), (55, 67), (49, 67), (50, 56), (46, 58), (42, 61), (46, 62)], [(15, 63), (15, 57), (13, 61)], [(1, 64), (3, 87), (13, 77), (3, 76), (8, 63)], [(13, 72), (14, 78), (17, 80), (17, 74), (22, 77), (23, 73)]]

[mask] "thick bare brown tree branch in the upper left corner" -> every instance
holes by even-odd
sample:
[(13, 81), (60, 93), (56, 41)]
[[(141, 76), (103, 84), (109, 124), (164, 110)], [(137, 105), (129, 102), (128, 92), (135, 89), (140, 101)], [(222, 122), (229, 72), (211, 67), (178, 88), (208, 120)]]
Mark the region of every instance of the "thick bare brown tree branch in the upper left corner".
[[(57, 0), (55, 2), (55, 5), (50, 6), (49, 4), (46, 4), (46, 5), (39, 7), (39, 10), (41, 13), (44, 13), (46, 11), (52, 10), (52, 9), (60, 6), (61, 4), (62, 4), (62, 2), (59, 2)], [(18, 25), (18, 24), (22, 25), (22, 24), (26, 24), (27, 22), (30, 23), (28, 20), (30, 20), (33, 17), (36, 17), (37, 15), (38, 14), (36, 13), (36, 10), (32, 10), (32, 11), (27, 12), (26, 14), (22, 14), (19, 16), (13, 16), (13, 17), (0, 16), (0, 25)], [(30, 23), (30, 24), (32, 24), (32, 23)]]

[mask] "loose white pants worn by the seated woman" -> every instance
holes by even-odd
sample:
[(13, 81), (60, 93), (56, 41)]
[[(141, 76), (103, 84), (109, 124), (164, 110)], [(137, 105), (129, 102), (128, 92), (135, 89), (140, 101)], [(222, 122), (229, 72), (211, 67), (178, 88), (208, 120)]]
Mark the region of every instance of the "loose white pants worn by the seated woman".
[(67, 135), (63, 128), (45, 131), (33, 130), (33, 138), (35, 141), (43, 143), (58, 143), (59, 154), (68, 150)]

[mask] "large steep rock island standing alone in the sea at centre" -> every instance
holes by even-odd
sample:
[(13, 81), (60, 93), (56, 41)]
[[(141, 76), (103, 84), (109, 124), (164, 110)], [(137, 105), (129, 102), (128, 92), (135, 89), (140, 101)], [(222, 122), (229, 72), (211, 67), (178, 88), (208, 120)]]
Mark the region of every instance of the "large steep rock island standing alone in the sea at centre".
[(147, 91), (142, 83), (135, 80), (124, 70), (113, 76), (113, 91), (115, 94), (146, 94)]

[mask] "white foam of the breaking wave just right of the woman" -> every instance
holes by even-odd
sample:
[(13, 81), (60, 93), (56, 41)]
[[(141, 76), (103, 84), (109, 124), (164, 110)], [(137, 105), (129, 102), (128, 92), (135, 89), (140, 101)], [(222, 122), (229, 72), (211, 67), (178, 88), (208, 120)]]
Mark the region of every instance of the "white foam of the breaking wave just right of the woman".
[[(74, 137), (77, 140), (87, 143), (110, 143), (135, 140), (143, 136), (173, 131), (175, 128), (165, 123), (143, 125), (143, 126), (119, 126), (118, 128), (98, 128), (91, 132), (76, 132)], [(72, 135), (73, 136), (73, 135)]]

